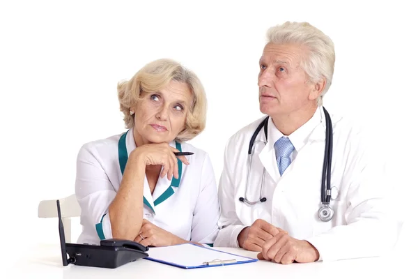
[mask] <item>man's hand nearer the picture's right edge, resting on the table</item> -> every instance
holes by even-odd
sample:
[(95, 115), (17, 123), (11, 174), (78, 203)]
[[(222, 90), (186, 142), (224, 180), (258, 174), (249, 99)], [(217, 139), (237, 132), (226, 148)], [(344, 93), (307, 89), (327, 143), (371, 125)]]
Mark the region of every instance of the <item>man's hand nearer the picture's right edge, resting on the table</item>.
[(265, 241), (257, 258), (281, 264), (315, 262), (319, 259), (319, 252), (308, 241), (293, 239), (288, 234), (280, 232)]

